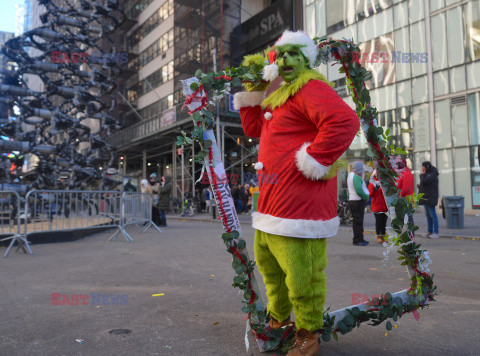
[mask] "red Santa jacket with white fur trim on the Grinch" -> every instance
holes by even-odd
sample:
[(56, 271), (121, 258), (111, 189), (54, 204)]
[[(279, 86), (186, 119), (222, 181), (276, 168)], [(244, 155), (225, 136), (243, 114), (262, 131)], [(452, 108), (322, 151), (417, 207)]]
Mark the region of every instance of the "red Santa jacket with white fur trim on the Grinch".
[(360, 122), (319, 80), (310, 80), (274, 110), (263, 92), (235, 94), (243, 130), (260, 137), (260, 196), (255, 229), (283, 236), (323, 238), (337, 233), (337, 179), (322, 180), (348, 149)]

